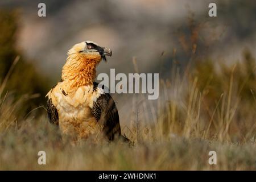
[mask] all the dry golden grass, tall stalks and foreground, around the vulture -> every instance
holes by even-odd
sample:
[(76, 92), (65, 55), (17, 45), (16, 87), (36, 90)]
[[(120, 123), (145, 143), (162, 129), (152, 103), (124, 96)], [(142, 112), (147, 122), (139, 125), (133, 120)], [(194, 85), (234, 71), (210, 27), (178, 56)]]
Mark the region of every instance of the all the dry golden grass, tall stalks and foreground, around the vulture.
[[(214, 81), (206, 79), (204, 86), (201, 78), (207, 75), (196, 73), (197, 69), (189, 68), (191, 74), (181, 77), (174, 68), (170, 80), (161, 81), (158, 103), (142, 101), (137, 106), (149, 112), (135, 123), (129, 136), (135, 142), (133, 147), (90, 140), (72, 146), (69, 140), (61, 139), (46, 114), (37, 118), (24, 115), (20, 111), (24, 99), (13, 101), (8, 94), (1, 95), (0, 169), (255, 170), (254, 77), (247, 79), (251, 85), (247, 81), (242, 84), (250, 88), (248, 96), (238, 86), (240, 77), (248, 75), (239, 76), (235, 67), (226, 75), (213, 71), (210, 78)], [(42, 166), (37, 156), (41, 150), (47, 154), (47, 164)], [(208, 164), (211, 150), (217, 152), (217, 165)]]

